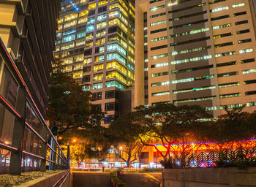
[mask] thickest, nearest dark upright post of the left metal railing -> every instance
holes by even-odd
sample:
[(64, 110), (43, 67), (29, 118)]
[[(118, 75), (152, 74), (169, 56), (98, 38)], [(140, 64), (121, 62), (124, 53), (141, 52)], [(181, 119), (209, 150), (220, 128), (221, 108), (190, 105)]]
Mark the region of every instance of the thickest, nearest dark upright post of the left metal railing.
[(15, 118), (12, 134), (12, 145), (18, 148), (18, 151), (11, 153), (10, 175), (20, 175), (21, 161), (23, 151), (23, 136), (26, 121), (26, 88), (22, 85), (18, 89), (16, 110), (20, 113), (21, 119)]

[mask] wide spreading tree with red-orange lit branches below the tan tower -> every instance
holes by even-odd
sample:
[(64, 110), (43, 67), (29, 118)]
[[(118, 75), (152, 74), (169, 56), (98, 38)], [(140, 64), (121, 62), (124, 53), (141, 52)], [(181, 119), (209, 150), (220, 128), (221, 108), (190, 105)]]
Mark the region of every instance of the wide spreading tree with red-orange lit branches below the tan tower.
[[(200, 146), (193, 143), (203, 140), (201, 129), (206, 125), (203, 119), (211, 118), (206, 110), (197, 105), (157, 104), (140, 106), (135, 110), (135, 123), (141, 124), (143, 129), (139, 136), (143, 145), (154, 146), (164, 159), (170, 159), (172, 153), (181, 161)], [(154, 141), (146, 143), (145, 140), (150, 138)], [(165, 153), (157, 148), (156, 143), (166, 149)]]

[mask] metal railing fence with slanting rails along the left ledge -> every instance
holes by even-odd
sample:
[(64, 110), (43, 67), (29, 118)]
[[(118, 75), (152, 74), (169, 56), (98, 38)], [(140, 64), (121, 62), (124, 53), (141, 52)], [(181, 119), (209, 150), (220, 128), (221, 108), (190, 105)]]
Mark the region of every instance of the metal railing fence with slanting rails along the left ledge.
[(0, 174), (67, 169), (69, 160), (48, 128), (39, 93), (20, 63), (13, 61), (0, 37)]

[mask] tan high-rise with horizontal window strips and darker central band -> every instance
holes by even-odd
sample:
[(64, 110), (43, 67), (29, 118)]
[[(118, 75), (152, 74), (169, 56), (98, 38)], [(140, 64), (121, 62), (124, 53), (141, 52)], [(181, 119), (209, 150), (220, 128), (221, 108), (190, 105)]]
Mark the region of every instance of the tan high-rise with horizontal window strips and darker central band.
[(136, 1), (135, 106), (256, 110), (254, 2)]

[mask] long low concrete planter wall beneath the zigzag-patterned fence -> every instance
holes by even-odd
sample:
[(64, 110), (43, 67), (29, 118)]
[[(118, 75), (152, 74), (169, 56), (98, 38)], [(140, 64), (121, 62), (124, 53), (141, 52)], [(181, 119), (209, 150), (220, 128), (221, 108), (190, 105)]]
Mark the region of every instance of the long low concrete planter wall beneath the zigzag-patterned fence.
[(162, 172), (162, 187), (194, 186), (256, 186), (256, 167), (164, 169)]

